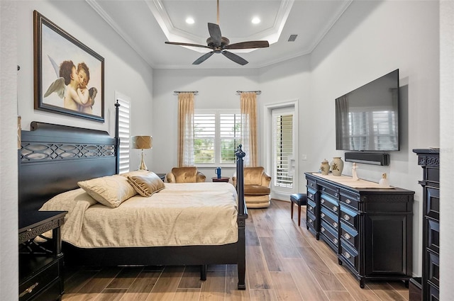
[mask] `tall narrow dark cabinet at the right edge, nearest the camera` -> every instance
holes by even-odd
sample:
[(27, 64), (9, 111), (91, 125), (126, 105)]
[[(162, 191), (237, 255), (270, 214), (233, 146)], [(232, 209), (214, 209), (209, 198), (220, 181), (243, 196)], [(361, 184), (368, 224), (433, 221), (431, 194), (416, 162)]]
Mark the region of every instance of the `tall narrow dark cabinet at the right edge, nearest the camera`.
[(413, 149), (423, 168), (422, 300), (439, 300), (440, 290), (440, 153)]

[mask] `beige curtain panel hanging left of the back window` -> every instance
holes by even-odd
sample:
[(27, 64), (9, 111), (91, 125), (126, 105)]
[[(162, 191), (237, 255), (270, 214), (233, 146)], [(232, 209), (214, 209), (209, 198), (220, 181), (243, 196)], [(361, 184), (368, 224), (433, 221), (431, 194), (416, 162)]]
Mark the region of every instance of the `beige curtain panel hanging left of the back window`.
[(194, 166), (194, 93), (178, 93), (178, 167)]

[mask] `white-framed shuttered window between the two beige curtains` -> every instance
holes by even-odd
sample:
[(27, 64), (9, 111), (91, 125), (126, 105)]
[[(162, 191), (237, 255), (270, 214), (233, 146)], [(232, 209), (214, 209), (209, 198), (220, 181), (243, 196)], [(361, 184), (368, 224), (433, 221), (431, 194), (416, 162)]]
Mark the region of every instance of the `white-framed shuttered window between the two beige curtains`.
[(240, 144), (240, 113), (206, 111), (194, 113), (194, 163), (235, 164)]

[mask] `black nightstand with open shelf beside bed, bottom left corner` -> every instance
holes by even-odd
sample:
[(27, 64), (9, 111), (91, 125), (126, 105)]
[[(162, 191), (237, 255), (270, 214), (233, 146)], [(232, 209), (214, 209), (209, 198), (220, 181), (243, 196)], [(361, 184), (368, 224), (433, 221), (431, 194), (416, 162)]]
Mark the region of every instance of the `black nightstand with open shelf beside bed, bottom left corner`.
[[(66, 211), (19, 212), (19, 301), (61, 300)], [(36, 239), (52, 230), (52, 239)]]

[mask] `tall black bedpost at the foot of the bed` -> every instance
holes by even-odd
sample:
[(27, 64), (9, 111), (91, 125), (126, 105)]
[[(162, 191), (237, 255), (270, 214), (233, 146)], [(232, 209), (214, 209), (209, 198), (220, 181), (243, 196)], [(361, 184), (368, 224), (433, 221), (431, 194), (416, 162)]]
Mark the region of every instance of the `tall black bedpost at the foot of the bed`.
[(244, 202), (244, 173), (243, 164), (245, 152), (238, 146), (236, 151), (236, 191), (238, 194), (238, 290), (245, 290), (245, 273), (246, 273), (246, 238), (245, 223), (248, 218), (248, 209)]

